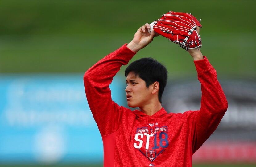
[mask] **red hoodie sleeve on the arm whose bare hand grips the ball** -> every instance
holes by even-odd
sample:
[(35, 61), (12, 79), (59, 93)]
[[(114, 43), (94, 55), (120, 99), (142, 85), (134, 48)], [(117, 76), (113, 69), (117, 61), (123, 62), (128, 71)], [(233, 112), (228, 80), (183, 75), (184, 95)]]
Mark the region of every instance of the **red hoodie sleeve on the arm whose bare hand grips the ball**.
[(89, 68), (84, 75), (85, 93), (101, 135), (118, 130), (124, 107), (111, 99), (109, 84), (122, 65), (136, 54), (123, 45)]

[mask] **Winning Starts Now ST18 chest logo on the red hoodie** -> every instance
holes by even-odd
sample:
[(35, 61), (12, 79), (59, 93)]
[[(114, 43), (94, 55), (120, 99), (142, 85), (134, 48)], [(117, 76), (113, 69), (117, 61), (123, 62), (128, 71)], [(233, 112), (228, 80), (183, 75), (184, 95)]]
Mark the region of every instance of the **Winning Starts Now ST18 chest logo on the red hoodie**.
[(149, 161), (154, 161), (169, 146), (167, 129), (167, 126), (155, 126), (155, 130), (149, 127), (137, 128), (134, 135), (134, 148), (138, 149)]

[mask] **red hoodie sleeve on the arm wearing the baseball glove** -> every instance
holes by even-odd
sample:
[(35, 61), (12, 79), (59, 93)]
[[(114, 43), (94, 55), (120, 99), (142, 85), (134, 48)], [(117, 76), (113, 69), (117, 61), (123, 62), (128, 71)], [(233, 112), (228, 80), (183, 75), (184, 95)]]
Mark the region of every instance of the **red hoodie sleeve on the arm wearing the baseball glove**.
[(208, 59), (204, 56), (203, 60), (195, 60), (194, 63), (201, 83), (202, 97), (200, 110), (187, 112), (192, 153), (214, 132), (228, 108), (216, 70)]

